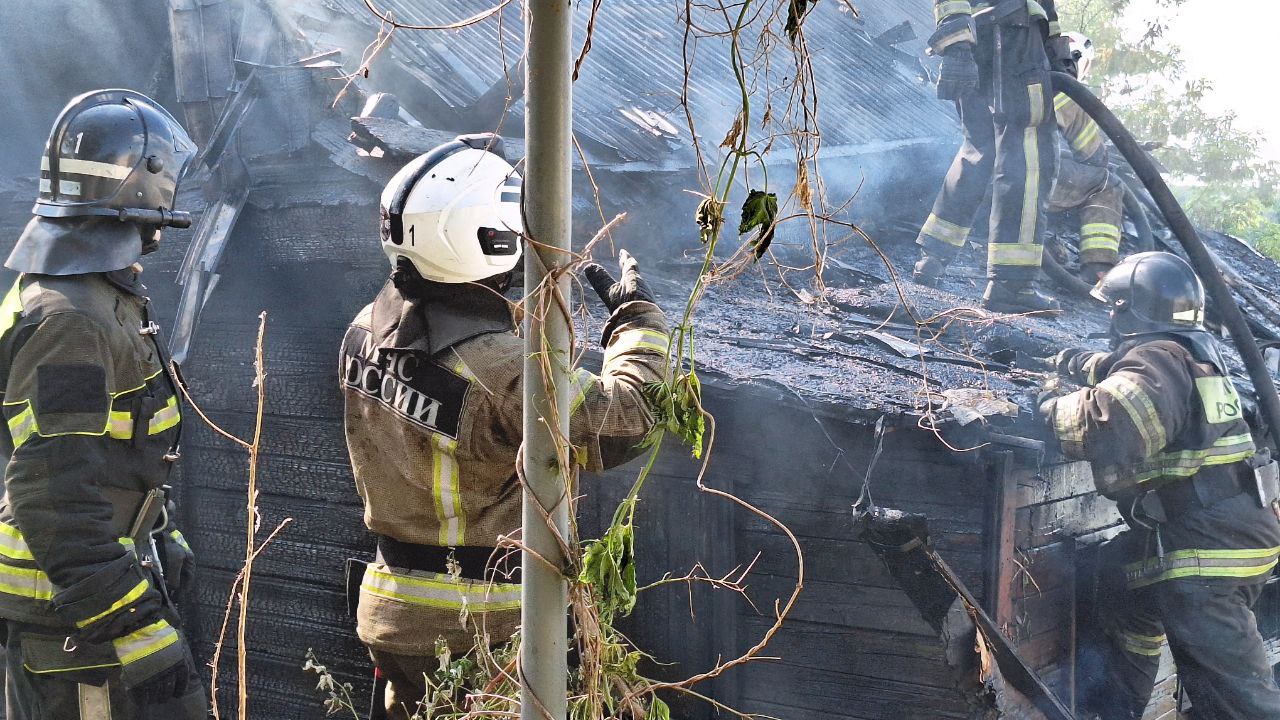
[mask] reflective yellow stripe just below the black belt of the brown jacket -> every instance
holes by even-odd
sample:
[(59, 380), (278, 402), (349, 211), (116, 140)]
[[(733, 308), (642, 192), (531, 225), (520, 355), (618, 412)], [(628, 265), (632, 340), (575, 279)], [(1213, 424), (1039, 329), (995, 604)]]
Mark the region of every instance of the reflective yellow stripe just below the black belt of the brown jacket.
[(520, 607), (518, 584), (453, 579), (439, 573), (393, 573), (385, 565), (370, 565), (360, 588), (372, 596), (442, 610)]

